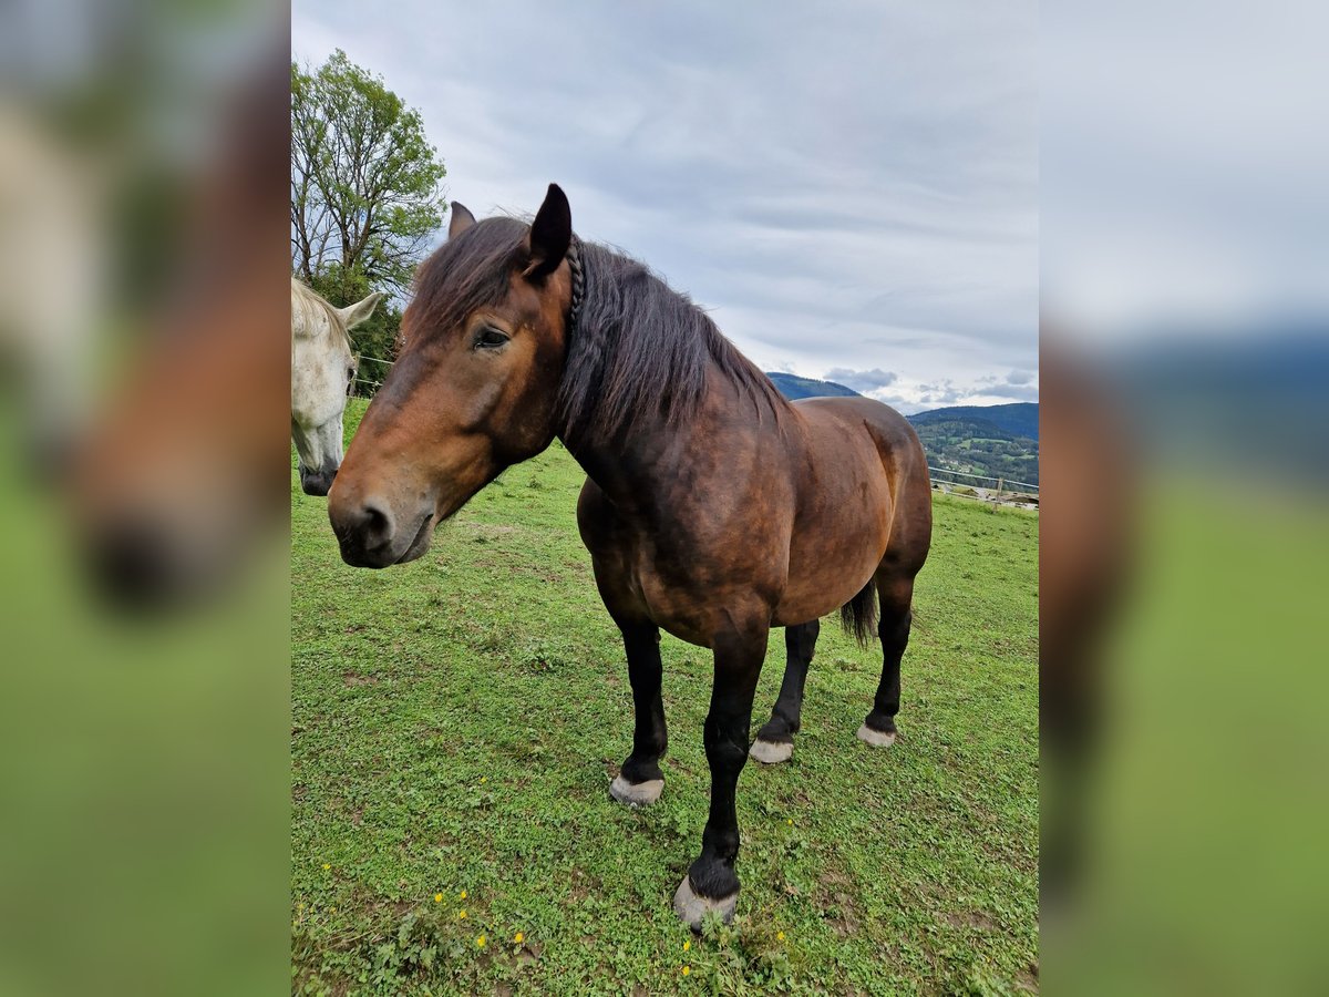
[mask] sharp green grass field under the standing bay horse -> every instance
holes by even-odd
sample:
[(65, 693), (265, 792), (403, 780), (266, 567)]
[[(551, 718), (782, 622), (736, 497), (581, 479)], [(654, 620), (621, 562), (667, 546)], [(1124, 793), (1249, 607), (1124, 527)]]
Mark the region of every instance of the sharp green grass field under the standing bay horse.
[(582, 477), (556, 444), (365, 572), (292, 475), (292, 990), (1037, 989), (1037, 517), (937, 500), (893, 748), (855, 739), (880, 649), (823, 627), (792, 762), (739, 780), (739, 916), (694, 939), (670, 899), (706, 819), (710, 655), (664, 638), (664, 796), (613, 803), (631, 691)]

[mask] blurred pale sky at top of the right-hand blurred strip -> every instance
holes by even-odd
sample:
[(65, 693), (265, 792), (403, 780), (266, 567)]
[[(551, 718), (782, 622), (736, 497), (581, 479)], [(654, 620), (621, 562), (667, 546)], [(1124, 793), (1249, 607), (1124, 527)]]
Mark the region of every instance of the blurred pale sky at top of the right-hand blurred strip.
[(1042, 298), (1098, 347), (1329, 315), (1329, 7), (1196, 9), (1043, 9)]

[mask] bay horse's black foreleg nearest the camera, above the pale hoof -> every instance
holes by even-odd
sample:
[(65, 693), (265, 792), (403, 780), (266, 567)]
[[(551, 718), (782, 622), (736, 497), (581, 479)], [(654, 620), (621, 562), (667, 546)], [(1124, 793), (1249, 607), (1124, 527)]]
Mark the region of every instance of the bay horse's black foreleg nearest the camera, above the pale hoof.
[(703, 897), (738, 892), (734, 863), (739, 853), (739, 818), (735, 791), (747, 763), (752, 695), (766, 657), (766, 627), (731, 635), (715, 643), (715, 686), (706, 718), (706, 760), (711, 767), (711, 810), (702, 833), (702, 855), (687, 876)]

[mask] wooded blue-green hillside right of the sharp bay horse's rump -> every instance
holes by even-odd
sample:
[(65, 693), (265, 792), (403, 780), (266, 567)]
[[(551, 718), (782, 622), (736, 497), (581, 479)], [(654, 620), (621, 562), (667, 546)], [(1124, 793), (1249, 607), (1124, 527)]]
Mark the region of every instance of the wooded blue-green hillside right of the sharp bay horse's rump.
[[(1038, 484), (1038, 405), (1034, 403), (934, 408), (909, 416), (909, 421), (933, 471)], [(957, 481), (985, 484), (964, 477)]]

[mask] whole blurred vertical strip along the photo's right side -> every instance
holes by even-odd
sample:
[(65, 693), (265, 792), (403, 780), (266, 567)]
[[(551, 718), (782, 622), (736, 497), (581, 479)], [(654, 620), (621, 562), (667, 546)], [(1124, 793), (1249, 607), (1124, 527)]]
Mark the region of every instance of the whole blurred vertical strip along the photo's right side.
[(1324, 989), (1325, 27), (1045, 8), (1051, 993)]

